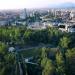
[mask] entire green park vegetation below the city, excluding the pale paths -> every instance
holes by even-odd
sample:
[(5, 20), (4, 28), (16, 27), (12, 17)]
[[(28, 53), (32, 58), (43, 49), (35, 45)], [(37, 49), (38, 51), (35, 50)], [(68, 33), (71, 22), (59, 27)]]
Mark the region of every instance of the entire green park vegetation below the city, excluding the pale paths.
[[(39, 19), (39, 14), (35, 14), (32, 18)], [(10, 26), (0, 27), (0, 41), (0, 75), (14, 75), (14, 72), (19, 72), (19, 64), (16, 62), (15, 53), (9, 53), (8, 47), (19, 46), (24, 48), (40, 43), (51, 44), (54, 47), (58, 46), (60, 50), (57, 50), (57, 48), (48, 50), (43, 47), (42, 49), (20, 52), (23, 57), (33, 56), (34, 59), (32, 62), (34, 61), (39, 65), (26, 65), (28, 70), (27, 74), (75, 75), (75, 48), (73, 48), (75, 47), (75, 34), (62, 33), (58, 28), (30, 30), (25, 27)], [(64, 51), (64, 54), (62, 51)], [(21, 65), (23, 68), (24, 63), (21, 63)]]

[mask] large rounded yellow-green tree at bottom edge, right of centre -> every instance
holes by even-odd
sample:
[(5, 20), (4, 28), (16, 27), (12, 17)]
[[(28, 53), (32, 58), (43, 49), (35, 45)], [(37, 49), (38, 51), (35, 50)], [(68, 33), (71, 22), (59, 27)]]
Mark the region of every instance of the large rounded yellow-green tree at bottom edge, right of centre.
[(41, 65), (43, 67), (42, 75), (53, 75), (54, 74), (55, 68), (50, 59), (43, 58)]

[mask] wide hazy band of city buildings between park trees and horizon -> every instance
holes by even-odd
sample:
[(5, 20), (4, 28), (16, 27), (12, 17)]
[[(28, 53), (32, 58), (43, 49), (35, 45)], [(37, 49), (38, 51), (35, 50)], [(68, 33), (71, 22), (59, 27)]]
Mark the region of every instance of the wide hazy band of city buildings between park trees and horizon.
[(0, 12), (0, 26), (26, 25), (28, 29), (57, 27), (59, 30), (75, 32), (75, 9), (37, 9)]

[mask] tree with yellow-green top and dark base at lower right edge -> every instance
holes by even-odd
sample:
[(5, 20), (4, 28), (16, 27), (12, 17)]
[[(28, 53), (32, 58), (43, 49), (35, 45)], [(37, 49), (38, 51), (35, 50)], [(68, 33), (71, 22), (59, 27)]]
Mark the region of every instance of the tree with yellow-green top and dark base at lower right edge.
[(67, 75), (75, 75), (75, 48), (66, 52)]

